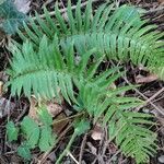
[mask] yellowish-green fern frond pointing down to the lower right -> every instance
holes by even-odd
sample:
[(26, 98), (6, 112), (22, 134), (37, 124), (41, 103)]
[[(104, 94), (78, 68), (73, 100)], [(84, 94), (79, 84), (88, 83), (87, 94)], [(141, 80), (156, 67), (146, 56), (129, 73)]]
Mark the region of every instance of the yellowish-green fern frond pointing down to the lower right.
[[(115, 79), (112, 78), (110, 82), (114, 81)], [(109, 140), (115, 139), (121, 152), (134, 157), (137, 163), (143, 163), (148, 162), (149, 155), (153, 156), (155, 152), (156, 134), (147, 129), (147, 126), (153, 125), (149, 120), (151, 115), (131, 112), (142, 102), (134, 97), (118, 96), (119, 92), (128, 91), (130, 87), (132, 86), (108, 91), (112, 93), (109, 96), (109, 93), (105, 92), (107, 85), (99, 94), (101, 86), (93, 87), (85, 84), (80, 90), (80, 97), (84, 105), (83, 108), (93, 117), (93, 121), (108, 126)]]

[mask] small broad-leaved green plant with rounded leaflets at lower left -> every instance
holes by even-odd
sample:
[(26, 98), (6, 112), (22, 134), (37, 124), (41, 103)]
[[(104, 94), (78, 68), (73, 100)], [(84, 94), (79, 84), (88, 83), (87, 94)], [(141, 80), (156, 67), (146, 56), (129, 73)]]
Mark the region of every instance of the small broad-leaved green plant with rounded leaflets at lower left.
[(7, 124), (9, 142), (16, 141), (19, 134), (22, 138), (17, 154), (25, 160), (31, 160), (31, 150), (38, 147), (40, 151), (47, 151), (55, 144), (56, 136), (51, 131), (52, 118), (44, 106), (38, 109), (38, 117), (40, 126), (28, 116), (24, 117), (20, 126), (15, 126), (13, 121)]

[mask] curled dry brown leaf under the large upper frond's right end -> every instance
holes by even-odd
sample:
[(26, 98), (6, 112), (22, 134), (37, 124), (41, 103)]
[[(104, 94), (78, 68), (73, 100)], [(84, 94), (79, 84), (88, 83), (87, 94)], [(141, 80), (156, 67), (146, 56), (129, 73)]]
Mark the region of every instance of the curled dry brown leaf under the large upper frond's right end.
[(157, 80), (157, 75), (155, 74), (150, 74), (148, 77), (143, 77), (143, 75), (137, 75), (136, 77), (136, 83), (150, 83), (152, 81)]

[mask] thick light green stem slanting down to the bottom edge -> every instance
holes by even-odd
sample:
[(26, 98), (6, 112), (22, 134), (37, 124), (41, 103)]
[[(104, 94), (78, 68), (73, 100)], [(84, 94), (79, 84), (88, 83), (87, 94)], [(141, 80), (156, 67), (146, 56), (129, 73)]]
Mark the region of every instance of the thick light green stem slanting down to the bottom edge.
[(63, 152), (60, 154), (60, 156), (59, 156), (59, 159), (57, 160), (56, 164), (60, 164), (60, 162), (61, 162), (61, 160), (63, 159), (63, 156), (65, 156), (67, 153), (70, 152), (69, 150), (70, 150), (70, 148), (71, 148), (71, 145), (72, 145), (74, 139), (77, 138), (77, 136), (78, 136), (78, 133), (77, 133), (77, 131), (74, 130), (74, 132), (73, 132), (73, 134), (72, 134), (72, 137), (71, 137), (71, 139), (70, 139), (70, 141), (69, 141), (69, 143), (68, 143), (68, 145), (66, 147), (66, 149), (63, 150)]

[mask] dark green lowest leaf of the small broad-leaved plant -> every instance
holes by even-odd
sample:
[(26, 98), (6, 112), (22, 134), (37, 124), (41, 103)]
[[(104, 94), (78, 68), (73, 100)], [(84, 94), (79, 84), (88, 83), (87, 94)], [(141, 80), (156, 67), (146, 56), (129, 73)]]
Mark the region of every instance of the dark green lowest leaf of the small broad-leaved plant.
[(30, 148), (25, 143), (17, 148), (17, 154), (27, 161), (32, 157)]

